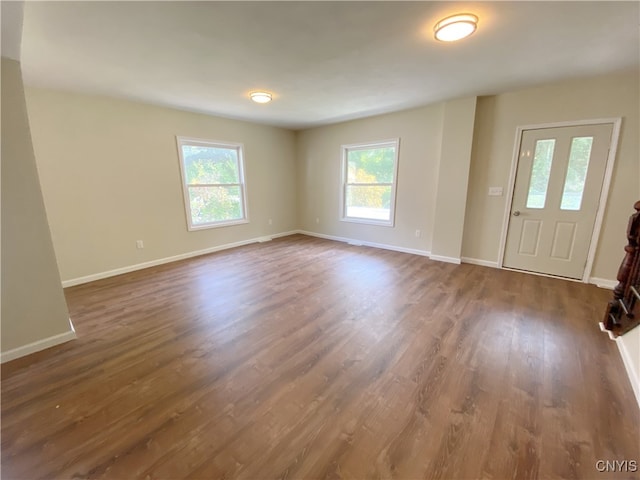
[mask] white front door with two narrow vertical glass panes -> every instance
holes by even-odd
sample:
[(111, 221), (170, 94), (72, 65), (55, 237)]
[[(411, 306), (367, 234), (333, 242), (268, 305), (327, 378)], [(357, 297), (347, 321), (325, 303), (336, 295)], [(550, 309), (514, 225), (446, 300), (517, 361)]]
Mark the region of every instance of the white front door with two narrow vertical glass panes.
[(524, 130), (503, 265), (582, 279), (613, 124)]

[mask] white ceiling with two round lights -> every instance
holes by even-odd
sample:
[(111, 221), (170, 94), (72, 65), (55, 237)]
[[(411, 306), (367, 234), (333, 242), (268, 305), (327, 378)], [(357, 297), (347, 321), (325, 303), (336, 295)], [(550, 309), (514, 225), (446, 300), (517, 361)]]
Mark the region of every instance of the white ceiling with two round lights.
[[(433, 25), (480, 17), (444, 44)], [(27, 2), (28, 85), (293, 129), (638, 69), (638, 2)], [(254, 89), (274, 101), (248, 100)]]

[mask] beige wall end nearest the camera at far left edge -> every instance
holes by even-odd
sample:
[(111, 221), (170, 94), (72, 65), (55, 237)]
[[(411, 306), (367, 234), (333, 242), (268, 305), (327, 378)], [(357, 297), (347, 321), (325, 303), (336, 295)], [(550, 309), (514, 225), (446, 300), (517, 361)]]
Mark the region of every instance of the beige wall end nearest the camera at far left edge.
[[(73, 338), (31, 145), (20, 64), (2, 57), (2, 342)], [(43, 342), (49, 343), (44, 345)], [(30, 352), (29, 351), (29, 352)], [(26, 352), (26, 353), (29, 353)]]

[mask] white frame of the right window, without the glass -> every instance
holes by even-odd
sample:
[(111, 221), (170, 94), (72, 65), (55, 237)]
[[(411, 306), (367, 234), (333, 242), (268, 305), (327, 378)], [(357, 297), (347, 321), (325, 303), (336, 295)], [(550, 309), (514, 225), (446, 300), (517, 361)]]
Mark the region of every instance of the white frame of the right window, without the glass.
[[(352, 150), (369, 150), (374, 148), (381, 147), (393, 147), (394, 148), (394, 156), (393, 156), (393, 182), (392, 183), (358, 183), (358, 184), (349, 184), (348, 180), (348, 155), (349, 151)], [(395, 225), (395, 214), (396, 214), (396, 190), (398, 185), (398, 158), (399, 158), (399, 150), (400, 150), (400, 139), (392, 138), (390, 140), (380, 140), (376, 142), (365, 142), (365, 143), (353, 143), (350, 145), (342, 145), (341, 147), (341, 156), (342, 156), (342, 188), (340, 195), (340, 220), (343, 222), (352, 222), (352, 223), (363, 223), (367, 225), (380, 225), (385, 227), (393, 227)], [(362, 218), (362, 217), (349, 217), (347, 216), (347, 187), (349, 185), (363, 185), (363, 186), (382, 186), (389, 185), (391, 186), (391, 205), (389, 206), (389, 220), (375, 220), (371, 218)]]

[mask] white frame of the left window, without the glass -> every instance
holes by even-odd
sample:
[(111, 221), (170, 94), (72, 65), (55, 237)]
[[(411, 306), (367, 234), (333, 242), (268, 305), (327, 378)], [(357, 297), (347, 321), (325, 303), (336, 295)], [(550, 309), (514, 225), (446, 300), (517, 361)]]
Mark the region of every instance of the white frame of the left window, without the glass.
[[(176, 137), (176, 143), (178, 145), (178, 156), (180, 159), (180, 175), (182, 178), (182, 194), (184, 199), (184, 208), (187, 217), (187, 230), (203, 230), (207, 228), (226, 227), (229, 225), (239, 225), (242, 223), (249, 223), (249, 214), (247, 210), (247, 186), (244, 175), (244, 145), (242, 143), (220, 142), (216, 140), (203, 140), (200, 138), (189, 137)], [(182, 154), (183, 145), (193, 145), (200, 147), (214, 147), (214, 148), (227, 148), (229, 150), (236, 150), (238, 155), (238, 176), (240, 183), (224, 183), (224, 184), (187, 184), (187, 174), (185, 171), (184, 157)], [(193, 223), (193, 215), (191, 214), (191, 201), (189, 199), (189, 187), (240, 187), (242, 204), (242, 218), (233, 220), (221, 220), (217, 222), (209, 223)]]

